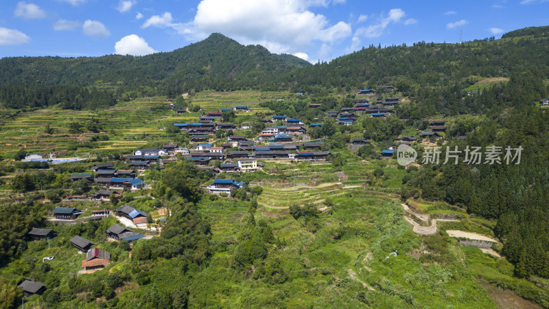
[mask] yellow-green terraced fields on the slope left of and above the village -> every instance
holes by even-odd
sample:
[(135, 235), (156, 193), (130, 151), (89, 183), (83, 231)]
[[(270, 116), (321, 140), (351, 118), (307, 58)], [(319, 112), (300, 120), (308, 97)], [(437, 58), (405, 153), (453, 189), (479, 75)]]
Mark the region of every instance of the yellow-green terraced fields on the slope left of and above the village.
[[(238, 113), (237, 117), (246, 121), (247, 116), (255, 113), (272, 115), (268, 108), (259, 106), (260, 102), (288, 99), (288, 91), (202, 91), (191, 95), (189, 102), (203, 108), (202, 115), (220, 108), (232, 108), (246, 105), (251, 111)], [(84, 148), (70, 152), (69, 155), (96, 153), (104, 150), (132, 152), (145, 146), (147, 141), (164, 141), (165, 133), (159, 128), (175, 122), (198, 122), (200, 113), (176, 114), (165, 97), (140, 98), (131, 102), (119, 102), (104, 111), (66, 111), (45, 108), (38, 111), (20, 113), (14, 118), (0, 122), (0, 152), (8, 156), (25, 149), (28, 153), (46, 155), (49, 152), (70, 152), (69, 144), (89, 141), (94, 133), (69, 134), (69, 123), (86, 124), (89, 119), (100, 119), (102, 130), (109, 133), (108, 141), (97, 141), (97, 147)], [(45, 126), (54, 129), (54, 134), (45, 134)], [(166, 143), (172, 141), (165, 140)], [(63, 155), (64, 153), (61, 153)]]

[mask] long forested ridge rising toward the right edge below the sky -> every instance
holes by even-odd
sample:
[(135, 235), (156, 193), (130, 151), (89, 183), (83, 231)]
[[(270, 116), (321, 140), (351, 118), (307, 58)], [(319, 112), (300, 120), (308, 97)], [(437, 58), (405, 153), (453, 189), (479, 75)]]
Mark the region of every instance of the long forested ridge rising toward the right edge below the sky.
[[(282, 77), (295, 89), (318, 87), (375, 89), (393, 84), (404, 93), (426, 87), (463, 82), (471, 76), (509, 77), (512, 71), (531, 71), (549, 76), (549, 33), (547, 27), (526, 28), (462, 44), (414, 43), (381, 48), (371, 45), (358, 52), (293, 71)], [(507, 39), (509, 37), (510, 39)]]

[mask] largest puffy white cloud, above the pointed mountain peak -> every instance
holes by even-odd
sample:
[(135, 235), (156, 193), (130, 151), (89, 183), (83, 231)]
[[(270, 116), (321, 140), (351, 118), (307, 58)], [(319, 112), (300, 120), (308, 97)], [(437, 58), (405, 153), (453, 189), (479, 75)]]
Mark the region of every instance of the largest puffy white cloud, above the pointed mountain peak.
[(331, 23), (307, 10), (341, 1), (329, 0), (202, 0), (189, 23), (176, 23), (172, 14), (152, 16), (142, 27), (170, 27), (190, 40), (220, 32), (242, 44), (261, 44), (271, 52), (293, 54), (314, 42), (334, 43), (351, 35), (351, 25)]

